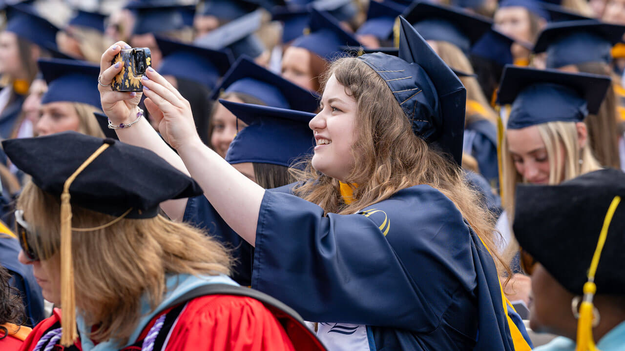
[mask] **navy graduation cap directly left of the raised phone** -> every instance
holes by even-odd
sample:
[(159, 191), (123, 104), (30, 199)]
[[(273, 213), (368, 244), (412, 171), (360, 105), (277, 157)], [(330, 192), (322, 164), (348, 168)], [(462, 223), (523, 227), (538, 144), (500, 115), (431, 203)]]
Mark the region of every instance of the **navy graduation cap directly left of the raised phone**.
[(37, 64), (47, 83), (47, 92), (41, 97), (42, 104), (56, 101), (82, 102), (101, 109), (98, 91), (100, 66), (63, 59), (39, 59)]

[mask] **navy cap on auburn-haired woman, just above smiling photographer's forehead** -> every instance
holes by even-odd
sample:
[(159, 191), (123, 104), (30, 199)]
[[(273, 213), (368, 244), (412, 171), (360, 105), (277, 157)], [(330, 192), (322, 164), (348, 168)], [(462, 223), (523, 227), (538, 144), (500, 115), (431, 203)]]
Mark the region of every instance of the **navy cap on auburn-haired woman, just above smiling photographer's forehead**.
[(302, 47), (331, 61), (341, 52), (341, 46), (360, 46), (352, 34), (344, 31), (339, 22), (323, 11), (311, 10), (310, 32), (295, 39), (291, 46)]

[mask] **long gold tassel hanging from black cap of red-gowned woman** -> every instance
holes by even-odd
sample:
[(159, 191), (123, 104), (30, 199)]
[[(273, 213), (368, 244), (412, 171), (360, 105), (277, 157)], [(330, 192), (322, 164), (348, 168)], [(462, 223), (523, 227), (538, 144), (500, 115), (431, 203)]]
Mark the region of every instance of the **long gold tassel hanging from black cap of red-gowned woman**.
[(89, 158), (81, 164), (72, 175), (65, 180), (63, 185), (63, 194), (61, 194), (61, 309), (63, 310), (63, 318), (61, 318), (61, 345), (69, 347), (74, 344), (74, 340), (78, 337), (76, 330), (76, 294), (74, 291), (74, 265), (72, 262), (72, 207), (69, 203), (69, 186), (74, 179), (84, 171), (104, 150), (108, 149), (109, 144), (102, 144)]

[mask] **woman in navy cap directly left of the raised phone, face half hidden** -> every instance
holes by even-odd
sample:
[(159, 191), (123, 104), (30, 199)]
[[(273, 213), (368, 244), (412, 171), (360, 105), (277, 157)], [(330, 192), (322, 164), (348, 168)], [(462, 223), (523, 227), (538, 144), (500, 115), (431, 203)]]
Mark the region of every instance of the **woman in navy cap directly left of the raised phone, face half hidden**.
[[(36, 136), (78, 131), (103, 137), (93, 112), (102, 111), (98, 93), (98, 66), (84, 61), (41, 59), (39, 69), (47, 83), (41, 97)], [(94, 84), (95, 82), (95, 84)]]

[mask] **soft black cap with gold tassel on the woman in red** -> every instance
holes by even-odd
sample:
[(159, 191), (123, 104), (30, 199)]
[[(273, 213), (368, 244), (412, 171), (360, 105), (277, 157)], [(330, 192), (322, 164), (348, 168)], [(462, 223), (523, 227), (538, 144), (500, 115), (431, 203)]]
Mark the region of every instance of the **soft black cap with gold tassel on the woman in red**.
[[(72, 232), (88, 235), (91, 228), (72, 228), (73, 205), (113, 217), (156, 217), (164, 200), (202, 194), (197, 183), (167, 161), (143, 147), (113, 139), (63, 132), (51, 136), (2, 141), (17, 168), (31, 175), (41, 190), (61, 200), (61, 307), (65, 311), (61, 344), (78, 337)], [(27, 219), (26, 219), (27, 220)], [(104, 224), (104, 227), (116, 222)]]

